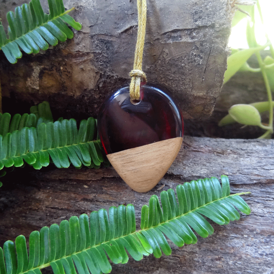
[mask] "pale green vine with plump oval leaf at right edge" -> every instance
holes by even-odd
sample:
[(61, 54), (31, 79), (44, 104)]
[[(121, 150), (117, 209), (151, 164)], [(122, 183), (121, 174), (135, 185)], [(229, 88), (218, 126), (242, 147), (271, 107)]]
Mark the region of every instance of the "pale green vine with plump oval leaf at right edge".
[[(259, 138), (270, 138), (273, 134), (273, 97), (272, 92), (274, 91), (274, 48), (270, 42), (267, 33), (265, 37), (267, 43), (263, 46), (259, 45), (255, 37), (255, 7), (257, 8), (262, 24), (263, 17), (261, 12), (261, 7), (259, 1), (256, 2), (255, 6), (244, 7), (241, 6), (241, 9), (246, 10), (250, 14), (250, 18), (247, 22), (246, 27), (246, 38), (248, 42), (248, 49), (243, 50), (232, 50), (232, 54), (227, 59), (227, 71), (224, 75), (224, 83), (227, 83), (229, 79), (239, 70), (246, 71), (249, 73), (260, 72), (262, 74), (265, 89), (267, 93), (268, 101), (266, 102), (256, 102), (252, 104), (236, 104), (230, 107), (228, 110), (228, 115), (225, 116), (220, 122), (219, 125), (228, 125), (230, 123), (238, 122), (242, 125), (253, 125), (258, 126), (265, 130), (265, 133)], [(238, 11), (239, 12), (239, 11)], [(246, 15), (245, 15), (246, 16)], [(235, 15), (235, 22), (238, 23), (240, 19), (243, 18), (243, 14)], [(266, 56), (263, 60), (261, 57), (261, 51), (269, 47), (270, 55)], [(247, 61), (252, 54), (255, 54), (258, 60), (258, 68), (251, 68)], [(262, 123), (261, 113), (268, 111), (269, 118), (268, 124)]]

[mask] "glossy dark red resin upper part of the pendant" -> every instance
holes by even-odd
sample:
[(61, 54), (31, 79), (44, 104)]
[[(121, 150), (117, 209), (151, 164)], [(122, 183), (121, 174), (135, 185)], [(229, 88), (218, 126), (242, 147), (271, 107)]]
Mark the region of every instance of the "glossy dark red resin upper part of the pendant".
[(140, 96), (132, 104), (127, 85), (102, 105), (98, 131), (106, 154), (183, 136), (181, 111), (166, 88), (142, 85)]

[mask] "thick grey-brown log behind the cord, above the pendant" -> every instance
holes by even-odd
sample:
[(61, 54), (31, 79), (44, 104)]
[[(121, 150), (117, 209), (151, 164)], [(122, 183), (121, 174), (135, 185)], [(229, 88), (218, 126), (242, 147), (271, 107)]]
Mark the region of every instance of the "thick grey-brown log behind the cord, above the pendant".
[[(1, 1), (0, 18), (27, 0)], [(170, 87), (185, 118), (212, 111), (226, 69), (232, 1), (149, 0), (143, 70)], [(47, 0), (41, 0), (46, 11)], [(82, 23), (75, 37), (11, 65), (0, 52), (3, 96), (15, 103), (48, 100), (65, 118), (97, 116), (106, 96), (129, 83), (137, 38), (136, 1), (64, 0)], [(4, 111), (8, 104), (4, 103)], [(18, 107), (16, 107), (18, 111)], [(27, 108), (26, 108), (27, 109)]]

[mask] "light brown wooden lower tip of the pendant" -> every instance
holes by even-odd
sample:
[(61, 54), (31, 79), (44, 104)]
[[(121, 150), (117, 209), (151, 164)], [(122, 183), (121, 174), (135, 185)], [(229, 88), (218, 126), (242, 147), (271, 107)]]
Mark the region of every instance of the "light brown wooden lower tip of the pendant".
[(135, 191), (146, 192), (158, 184), (175, 160), (183, 137), (107, 154), (121, 178)]

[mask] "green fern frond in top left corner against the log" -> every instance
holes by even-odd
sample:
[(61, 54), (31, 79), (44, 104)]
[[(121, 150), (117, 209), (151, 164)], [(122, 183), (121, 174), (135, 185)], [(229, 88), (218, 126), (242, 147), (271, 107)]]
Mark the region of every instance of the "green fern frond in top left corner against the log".
[(81, 24), (76, 22), (65, 11), (62, 0), (48, 0), (50, 14), (44, 13), (39, 0), (31, 0), (30, 4), (16, 7), (15, 12), (7, 13), (8, 35), (0, 24), (0, 50), (12, 64), (22, 57), (22, 52), (27, 54), (38, 53), (40, 49), (46, 50), (49, 44), (55, 46), (58, 40), (64, 42), (73, 37), (72, 30), (81, 29)]

